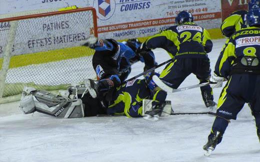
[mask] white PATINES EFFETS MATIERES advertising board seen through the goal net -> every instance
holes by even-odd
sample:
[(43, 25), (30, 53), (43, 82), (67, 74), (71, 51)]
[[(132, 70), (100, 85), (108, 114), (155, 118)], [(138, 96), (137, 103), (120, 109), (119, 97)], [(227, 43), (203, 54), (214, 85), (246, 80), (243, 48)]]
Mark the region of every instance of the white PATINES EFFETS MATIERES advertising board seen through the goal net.
[[(91, 17), (91, 11), (82, 11), (20, 20), (15, 31), (12, 55), (80, 46), (92, 34)], [(10, 27), (10, 22), (1, 23), (0, 57), (11, 32)]]

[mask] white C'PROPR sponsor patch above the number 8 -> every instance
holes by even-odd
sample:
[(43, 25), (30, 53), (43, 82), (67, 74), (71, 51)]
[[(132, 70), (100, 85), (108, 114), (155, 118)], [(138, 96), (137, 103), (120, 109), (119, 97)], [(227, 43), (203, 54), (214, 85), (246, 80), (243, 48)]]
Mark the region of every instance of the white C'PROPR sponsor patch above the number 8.
[(235, 40), (235, 48), (250, 45), (260, 45), (260, 36), (249, 36)]

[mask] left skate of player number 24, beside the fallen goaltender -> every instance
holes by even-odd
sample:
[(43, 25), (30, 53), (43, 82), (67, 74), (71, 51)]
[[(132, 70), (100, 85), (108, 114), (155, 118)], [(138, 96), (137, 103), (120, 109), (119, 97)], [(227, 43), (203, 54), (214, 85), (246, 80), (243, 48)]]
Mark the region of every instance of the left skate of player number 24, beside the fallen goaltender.
[(159, 117), (161, 116), (164, 106), (165, 106), (165, 102), (163, 104), (154, 105), (150, 111), (145, 112), (143, 119), (151, 120), (151, 121), (159, 120)]

